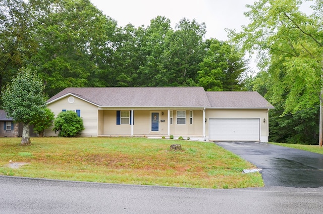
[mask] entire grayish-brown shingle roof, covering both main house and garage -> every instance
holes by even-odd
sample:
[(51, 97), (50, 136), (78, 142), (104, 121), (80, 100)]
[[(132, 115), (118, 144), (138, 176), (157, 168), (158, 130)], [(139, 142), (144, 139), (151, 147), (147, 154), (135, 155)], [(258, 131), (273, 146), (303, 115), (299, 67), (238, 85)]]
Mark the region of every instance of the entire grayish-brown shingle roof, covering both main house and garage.
[(66, 88), (47, 103), (73, 94), (101, 107), (201, 107), (214, 109), (273, 109), (255, 91), (204, 91), (202, 87)]

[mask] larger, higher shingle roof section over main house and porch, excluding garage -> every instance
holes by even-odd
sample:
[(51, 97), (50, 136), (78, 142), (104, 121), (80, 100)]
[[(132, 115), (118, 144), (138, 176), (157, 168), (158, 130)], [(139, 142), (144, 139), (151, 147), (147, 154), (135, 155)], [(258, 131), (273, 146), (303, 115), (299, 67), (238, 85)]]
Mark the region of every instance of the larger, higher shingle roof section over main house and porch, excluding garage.
[(66, 88), (47, 102), (69, 93), (102, 107), (210, 106), (203, 87)]

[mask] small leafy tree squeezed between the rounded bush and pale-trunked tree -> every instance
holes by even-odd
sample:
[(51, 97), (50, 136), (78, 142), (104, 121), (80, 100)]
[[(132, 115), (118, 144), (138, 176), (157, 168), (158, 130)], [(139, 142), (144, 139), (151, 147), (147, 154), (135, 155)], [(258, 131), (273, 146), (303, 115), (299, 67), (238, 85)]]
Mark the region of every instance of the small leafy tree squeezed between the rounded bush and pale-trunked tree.
[(54, 113), (50, 109), (45, 108), (44, 114), (36, 115), (36, 117), (30, 122), (34, 125), (34, 130), (39, 134), (40, 137), (43, 137), (45, 129), (49, 128), (52, 125), (54, 120)]

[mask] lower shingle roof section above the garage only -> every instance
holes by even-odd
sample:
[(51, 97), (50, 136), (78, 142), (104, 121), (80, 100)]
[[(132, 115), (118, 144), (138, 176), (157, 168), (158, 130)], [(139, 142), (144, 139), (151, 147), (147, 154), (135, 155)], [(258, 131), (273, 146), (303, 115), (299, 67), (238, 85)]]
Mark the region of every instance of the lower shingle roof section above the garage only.
[(256, 91), (206, 91), (215, 109), (274, 109), (274, 106)]

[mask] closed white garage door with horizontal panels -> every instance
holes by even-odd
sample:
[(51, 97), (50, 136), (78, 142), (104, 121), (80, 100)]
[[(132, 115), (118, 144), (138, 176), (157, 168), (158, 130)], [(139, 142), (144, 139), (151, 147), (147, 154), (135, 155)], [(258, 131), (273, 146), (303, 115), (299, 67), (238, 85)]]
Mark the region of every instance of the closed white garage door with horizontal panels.
[(209, 119), (209, 140), (258, 141), (259, 119)]

